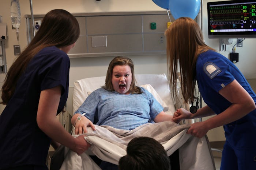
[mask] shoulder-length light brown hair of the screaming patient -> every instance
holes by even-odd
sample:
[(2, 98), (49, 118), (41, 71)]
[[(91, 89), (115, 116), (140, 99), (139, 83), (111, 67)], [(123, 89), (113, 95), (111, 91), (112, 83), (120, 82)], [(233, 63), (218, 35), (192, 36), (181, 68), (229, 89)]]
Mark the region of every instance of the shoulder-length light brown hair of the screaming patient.
[(113, 69), (115, 66), (129, 66), (131, 68), (131, 73), (132, 73), (132, 82), (129, 91), (131, 91), (132, 94), (134, 93), (142, 93), (140, 88), (136, 86), (136, 80), (135, 80), (135, 74), (134, 74), (134, 65), (131, 59), (127, 57), (121, 57), (117, 56), (115, 57), (110, 63), (105, 79), (105, 86), (103, 88), (105, 90), (109, 91), (114, 91), (113, 85), (112, 85), (112, 74), (113, 74)]

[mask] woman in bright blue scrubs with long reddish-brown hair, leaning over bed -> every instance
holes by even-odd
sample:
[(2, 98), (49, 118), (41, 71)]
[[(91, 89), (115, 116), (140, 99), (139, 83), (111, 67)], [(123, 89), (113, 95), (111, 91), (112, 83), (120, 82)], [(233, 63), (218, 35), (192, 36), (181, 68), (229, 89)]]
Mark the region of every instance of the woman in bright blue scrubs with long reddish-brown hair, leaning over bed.
[[(178, 109), (174, 121), (215, 115), (191, 124), (187, 133), (203, 137), (223, 126), (226, 143), (221, 170), (256, 170), (256, 95), (238, 68), (204, 44), (198, 24), (188, 17), (175, 20), (166, 30), (170, 86), (176, 91), (177, 72), (185, 101), (193, 101), (196, 82), (207, 106), (192, 114)], [(216, 115), (217, 114), (217, 115)]]

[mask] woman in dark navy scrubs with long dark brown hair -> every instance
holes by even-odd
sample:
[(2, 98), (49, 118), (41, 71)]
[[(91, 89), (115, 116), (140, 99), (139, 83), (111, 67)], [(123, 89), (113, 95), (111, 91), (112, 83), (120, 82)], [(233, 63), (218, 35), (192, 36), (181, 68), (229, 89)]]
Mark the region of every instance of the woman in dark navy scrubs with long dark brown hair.
[(7, 72), (2, 87), (0, 169), (48, 170), (50, 143), (77, 154), (88, 149), (56, 119), (68, 97), (67, 53), (79, 37), (78, 21), (63, 9), (48, 12), (31, 43)]

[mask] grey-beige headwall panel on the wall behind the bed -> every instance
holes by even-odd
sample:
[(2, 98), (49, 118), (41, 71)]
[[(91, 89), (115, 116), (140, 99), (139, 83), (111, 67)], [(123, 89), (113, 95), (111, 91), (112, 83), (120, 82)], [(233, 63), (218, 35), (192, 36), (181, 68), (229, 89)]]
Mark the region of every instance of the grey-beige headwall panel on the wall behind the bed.
[[(166, 54), (164, 32), (172, 15), (167, 11), (73, 13), (80, 36), (69, 57)], [(31, 16), (27, 19), (28, 43), (33, 38)], [(34, 15), (41, 20), (44, 15)]]

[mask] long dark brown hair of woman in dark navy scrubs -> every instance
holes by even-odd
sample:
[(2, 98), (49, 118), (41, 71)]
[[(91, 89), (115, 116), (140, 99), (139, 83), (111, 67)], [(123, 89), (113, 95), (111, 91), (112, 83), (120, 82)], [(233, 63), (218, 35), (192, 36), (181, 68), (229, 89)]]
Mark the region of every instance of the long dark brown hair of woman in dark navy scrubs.
[(48, 12), (31, 43), (14, 61), (7, 72), (2, 87), (2, 104), (7, 104), (14, 94), (18, 79), (25, 71), (30, 60), (45, 47), (66, 47), (76, 42), (80, 34), (76, 18), (63, 9)]

